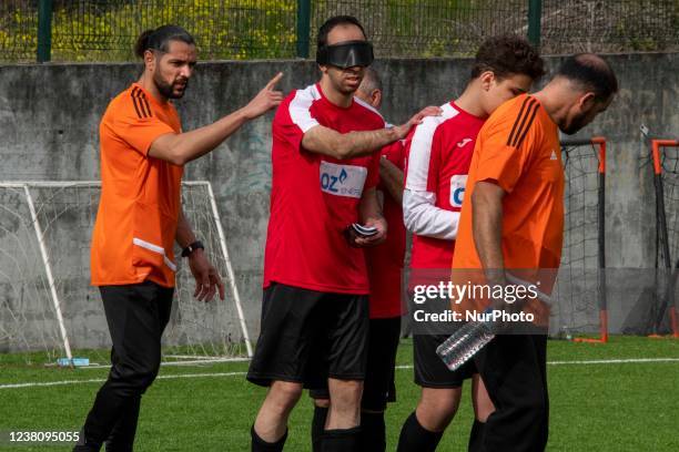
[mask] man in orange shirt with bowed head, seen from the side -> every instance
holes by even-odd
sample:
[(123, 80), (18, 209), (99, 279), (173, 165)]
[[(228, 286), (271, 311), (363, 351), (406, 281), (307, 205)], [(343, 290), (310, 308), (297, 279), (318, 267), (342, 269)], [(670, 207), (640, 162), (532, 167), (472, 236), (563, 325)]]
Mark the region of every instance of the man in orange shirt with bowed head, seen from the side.
[[(618, 82), (594, 54), (567, 58), (538, 93), (506, 102), (482, 129), (466, 186), (453, 258), (456, 274), (482, 271), (507, 285), (520, 270), (560, 263), (564, 172), (558, 131), (574, 134), (605, 111)], [(503, 301), (500, 301), (503, 304)], [(496, 336), (474, 357), (496, 407), (484, 451), (541, 451), (547, 444), (546, 335)]]

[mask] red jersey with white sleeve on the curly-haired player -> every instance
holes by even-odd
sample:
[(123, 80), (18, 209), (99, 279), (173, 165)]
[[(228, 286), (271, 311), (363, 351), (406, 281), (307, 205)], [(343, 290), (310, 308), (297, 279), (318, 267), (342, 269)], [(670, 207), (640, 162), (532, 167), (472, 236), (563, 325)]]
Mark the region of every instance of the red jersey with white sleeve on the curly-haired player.
[(474, 145), (485, 120), (449, 102), (425, 117), (408, 142), (404, 215), (414, 233), (412, 268), (445, 269), (453, 261), (459, 212)]

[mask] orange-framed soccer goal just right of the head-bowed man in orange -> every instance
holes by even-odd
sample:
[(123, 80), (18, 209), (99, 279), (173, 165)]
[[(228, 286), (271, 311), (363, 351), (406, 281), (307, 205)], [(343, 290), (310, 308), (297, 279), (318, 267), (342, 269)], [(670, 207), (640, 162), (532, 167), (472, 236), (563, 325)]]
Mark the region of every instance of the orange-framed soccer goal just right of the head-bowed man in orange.
[(561, 160), (565, 234), (553, 325), (575, 341), (606, 342), (606, 138), (563, 141)]

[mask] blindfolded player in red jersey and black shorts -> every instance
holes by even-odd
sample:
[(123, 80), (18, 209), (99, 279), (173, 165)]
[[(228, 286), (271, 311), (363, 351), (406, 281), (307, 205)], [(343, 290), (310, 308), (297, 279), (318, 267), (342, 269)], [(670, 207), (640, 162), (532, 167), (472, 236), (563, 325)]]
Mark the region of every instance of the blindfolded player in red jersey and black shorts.
[[(255, 452), (283, 450), (302, 389), (324, 386), (331, 409), (323, 451), (358, 448), (369, 291), (362, 247), (382, 243), (387, 227), (375, 192), (376, 151), (424, 115), (385, 127), (354, 99), (372, 61), (355, 18), (328, 19), (318, 31), (321, 81), (293, 91), (274, 117), (262, 325), (247, 372), (270, 388), (251, 431)], [(375, 234), (358, 236), (355, 223)]]

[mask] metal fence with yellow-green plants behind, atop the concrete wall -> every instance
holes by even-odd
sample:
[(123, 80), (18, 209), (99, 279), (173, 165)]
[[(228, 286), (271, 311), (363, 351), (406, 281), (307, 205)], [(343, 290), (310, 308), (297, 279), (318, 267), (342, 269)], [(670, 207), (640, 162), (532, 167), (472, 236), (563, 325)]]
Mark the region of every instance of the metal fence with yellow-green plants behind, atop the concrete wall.
[(3, 0), (0, 61), (129, 61), (163, 23), (190, 30), (205, 60), (304, 58), (340, 13), (378, 58), (468, 55), (506, 32), (544, 53), (679, 50), (679, 0)]

